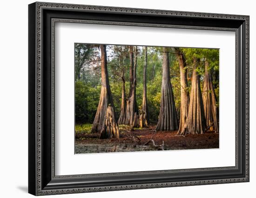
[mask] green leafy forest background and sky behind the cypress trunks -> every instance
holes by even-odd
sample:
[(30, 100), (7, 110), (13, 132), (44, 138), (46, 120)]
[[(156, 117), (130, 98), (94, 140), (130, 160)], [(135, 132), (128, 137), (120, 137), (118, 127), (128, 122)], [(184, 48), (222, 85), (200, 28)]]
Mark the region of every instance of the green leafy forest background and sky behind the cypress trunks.
[[(117, 119), (121, 112), (122, 82), (125, 82), (125, 94), (129, 95), (129, 56), (130, 46), (107, 45), (107, 67), (110, 89), (112, 92), (115, 113)], [(162, 54), (163, 47), (148, 46), (145, 53), (144, 46), (136, 47), (136, 101), (139, 110), (142, 107), (143, 94), (143, 67), (145, 54), (147, 54), (147, 101), (148, 101), (148, 124), (155, 125), (161, 103), (162, 85)], [(178, 120), (180, 120), (181, 106), (181, 79), (179, 60), (177, 52), (182, 53), (185, 58), (185, 69), (187, 70), (188, 87), (191, 91), (192, 72), (194, 69), (193, 59), (200, 59), (196, 65), (199, 75), (200, 86), (203, 93), (205, 80), (205, 59), (209, 60), (212, 83), (216, 94), (216, 106), (219, 106), (219, 50), (202, 48), (173, 48), (168, 47), (170, 80), (174, 93), (175, 107)], [(94, 122), (97, 107), (101, 95), (101, 50), (99, 45), (88, 45), (76, 43), (74, 46), (75, 56), (75, 122), (85, 124)]]

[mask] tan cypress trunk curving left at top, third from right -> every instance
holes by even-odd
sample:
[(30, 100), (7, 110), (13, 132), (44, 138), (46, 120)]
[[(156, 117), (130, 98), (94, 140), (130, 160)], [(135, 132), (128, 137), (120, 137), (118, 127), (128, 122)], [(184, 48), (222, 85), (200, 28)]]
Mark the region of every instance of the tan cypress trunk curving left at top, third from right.
[(177, 134), (182, 132), (189, 112), (189, 92), (188, 92), (188, 79), (187, 69), (185, 69), (185, 58), (179, 48), (175, 48), (176, 57), (180, 66), (181, 77), (181, 107), (180, 107), (180, 126)]

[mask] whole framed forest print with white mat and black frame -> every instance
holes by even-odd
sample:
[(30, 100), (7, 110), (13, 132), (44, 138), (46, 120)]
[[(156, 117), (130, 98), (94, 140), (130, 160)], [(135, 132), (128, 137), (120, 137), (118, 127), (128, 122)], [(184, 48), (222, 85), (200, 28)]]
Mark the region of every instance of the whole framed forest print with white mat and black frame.
[(29, 193), (249, 182), (249, 16), (28, 13)]

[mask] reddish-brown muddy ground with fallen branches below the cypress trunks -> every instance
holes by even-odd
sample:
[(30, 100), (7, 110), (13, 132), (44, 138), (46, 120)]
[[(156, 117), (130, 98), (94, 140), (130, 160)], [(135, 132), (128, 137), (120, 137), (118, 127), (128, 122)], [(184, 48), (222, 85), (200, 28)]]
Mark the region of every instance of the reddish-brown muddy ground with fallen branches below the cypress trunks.
[(219, 148), (219, 134), (215, 132), (177, 136), (177, 131), (155, 132), (153, 128), (122, 131), (119, 140), (99, 139), (98, 133), (76, 134), (75, 153)]

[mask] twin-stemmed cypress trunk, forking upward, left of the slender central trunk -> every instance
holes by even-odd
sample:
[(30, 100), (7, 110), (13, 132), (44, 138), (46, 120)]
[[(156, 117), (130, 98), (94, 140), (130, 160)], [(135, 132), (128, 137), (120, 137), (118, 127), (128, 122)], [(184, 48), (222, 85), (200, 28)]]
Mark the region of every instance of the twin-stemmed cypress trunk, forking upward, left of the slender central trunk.
[[(133, 46), (130, 46), (130, 91), (126, 105), (125, 124), (132, 127), (139, 126), (139, 111), (136, 101), (136, 67), (137, 67), (137, 47), (135, 50), (135, 59)], [(131, 79), (133, 80), (131, 86)]]

